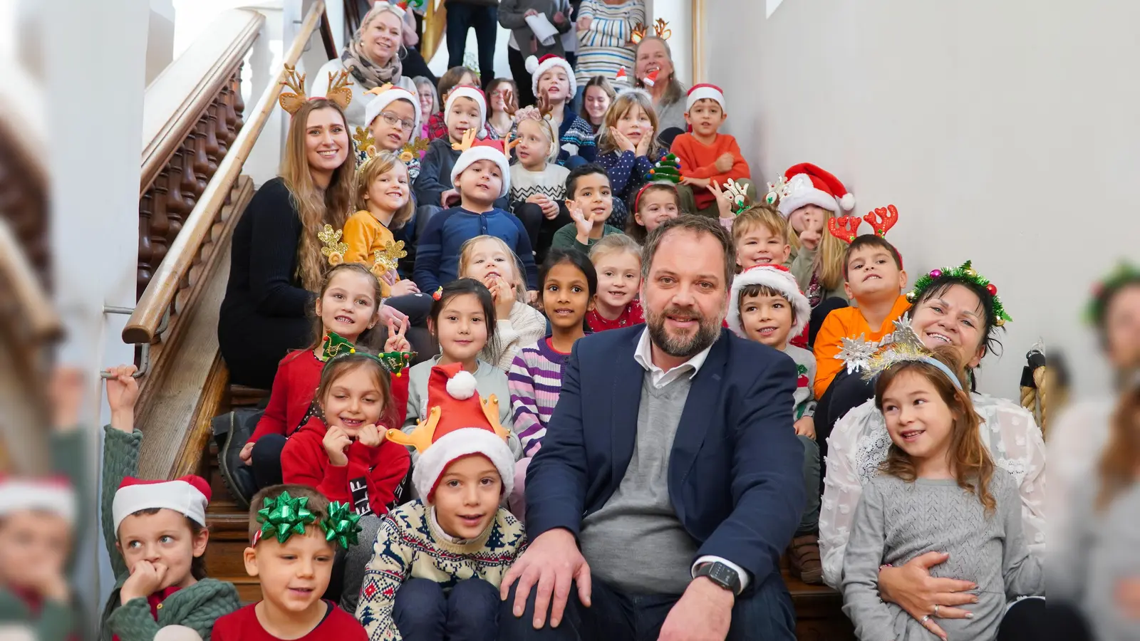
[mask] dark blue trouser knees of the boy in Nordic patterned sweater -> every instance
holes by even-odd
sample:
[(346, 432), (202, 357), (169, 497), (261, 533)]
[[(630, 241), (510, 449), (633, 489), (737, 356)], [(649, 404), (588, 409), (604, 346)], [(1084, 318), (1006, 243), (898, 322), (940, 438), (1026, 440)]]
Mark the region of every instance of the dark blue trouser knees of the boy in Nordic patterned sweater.
[(405, 641), (495, 641), (498, 589), (481, 578), (455, 584), (450, 594), (426, 578), (409, 578), (396, 592), (392, 620)]

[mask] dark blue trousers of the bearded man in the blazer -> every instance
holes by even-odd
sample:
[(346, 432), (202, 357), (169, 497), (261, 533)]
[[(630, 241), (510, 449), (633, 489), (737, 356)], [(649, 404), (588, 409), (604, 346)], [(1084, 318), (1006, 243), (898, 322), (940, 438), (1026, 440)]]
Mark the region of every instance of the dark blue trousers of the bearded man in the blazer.
[[(535, 590), (527, 600), (527, 610), (515, 618), (514, 593), (502, 602), (499, 639), (502, 641), (656, 641), (669, 610), (679, 594), (626, 594), (598, 579), (593, 579), (591, 607), (578, 601), (578, 587), (570, 587), (565, 617), (557, 627), (535, 630)], [(760, 585), (749, 584), (732, 607), (732, 624), (725, 641), (795, 641), (796, 611), (791, 595), (779, 573), (773, 571)]]

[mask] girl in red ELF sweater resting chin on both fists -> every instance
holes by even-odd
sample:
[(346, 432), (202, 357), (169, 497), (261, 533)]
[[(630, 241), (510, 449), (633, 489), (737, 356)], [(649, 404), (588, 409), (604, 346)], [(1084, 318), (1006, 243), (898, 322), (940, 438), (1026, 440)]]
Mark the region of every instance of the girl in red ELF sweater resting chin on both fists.
[(357, 514), (384, 514), (408, 473), (408, 451), (384, 439), (400, 425), (390, 376), (361, 350), (332, 358), (320, 374), (314, 416), (285, 443), (282, 474), (287, 484), (314, 487)]

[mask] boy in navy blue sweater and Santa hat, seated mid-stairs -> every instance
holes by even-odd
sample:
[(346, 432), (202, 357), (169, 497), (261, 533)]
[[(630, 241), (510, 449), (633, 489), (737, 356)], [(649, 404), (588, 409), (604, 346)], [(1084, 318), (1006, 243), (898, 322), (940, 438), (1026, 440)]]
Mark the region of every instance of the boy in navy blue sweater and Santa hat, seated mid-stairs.
[(434, 292), (455, 281), (463, 243), (488, 235), (502, 238), (515, 253), (522, 261), (527, 289), (537, 291), (538, 268), (530, 235), (521, 220), (498, 206), (500, 201), (506, 201), (511, 187), (503, 140), (471, 141), (470, 136), (464, 141), (469, 148), (451, 167), (451, 180), (459, 190), (459, 206), (443, 210), (427, 221), (420, 238), (413, 279), (422, 292)]

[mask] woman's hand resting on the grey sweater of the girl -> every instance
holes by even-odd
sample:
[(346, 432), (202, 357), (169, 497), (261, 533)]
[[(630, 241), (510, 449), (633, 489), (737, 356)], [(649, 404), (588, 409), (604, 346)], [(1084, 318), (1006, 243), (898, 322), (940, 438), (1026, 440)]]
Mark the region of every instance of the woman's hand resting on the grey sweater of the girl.
[[(917, 620), (930, 615), (926, 628), (943, 640), (946, 639), (946, 633), (935, 618), (966, 618), (967, 610), (956, 606), (978, 602), (977, 597), (966, 592), (977, 589), (974, 583), (930, 576), (930, 568), (946, 562), (950, 554), (945, 552), (927, 552), (911, 559), (902, 567), (879, 569), (879, 598), (906, 610), (906, 614)], [(937, 615), (934, 611), (935, 606), (938, 606)]]

